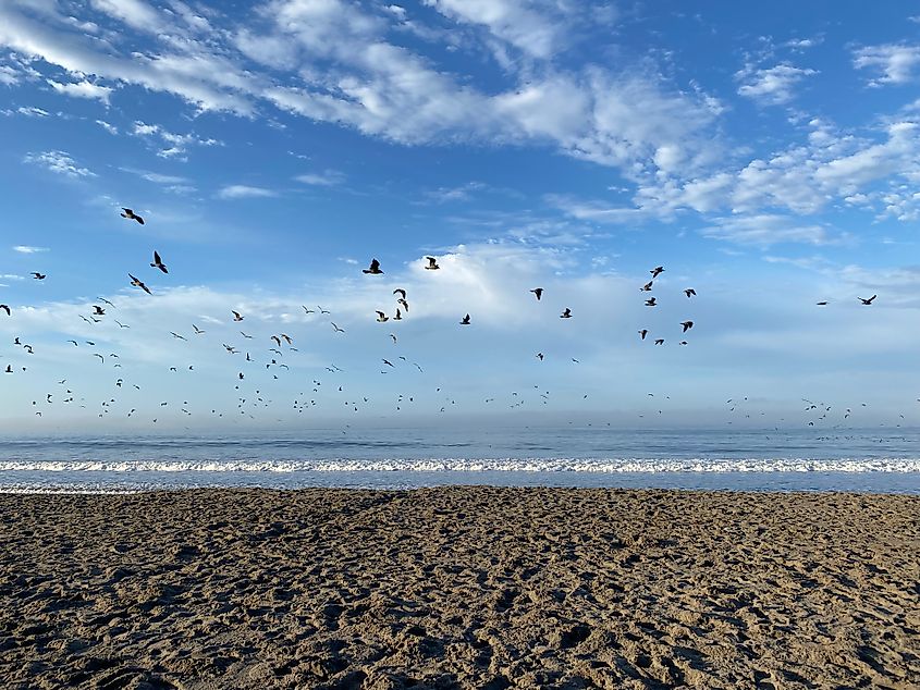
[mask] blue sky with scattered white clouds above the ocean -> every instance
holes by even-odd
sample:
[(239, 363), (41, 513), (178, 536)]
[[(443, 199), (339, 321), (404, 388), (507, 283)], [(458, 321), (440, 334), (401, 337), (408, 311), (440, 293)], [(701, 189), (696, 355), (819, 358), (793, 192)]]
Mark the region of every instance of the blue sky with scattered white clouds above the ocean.
[(920, 8), (801, 8), (0, 3), (0, 431), (917, 423)]

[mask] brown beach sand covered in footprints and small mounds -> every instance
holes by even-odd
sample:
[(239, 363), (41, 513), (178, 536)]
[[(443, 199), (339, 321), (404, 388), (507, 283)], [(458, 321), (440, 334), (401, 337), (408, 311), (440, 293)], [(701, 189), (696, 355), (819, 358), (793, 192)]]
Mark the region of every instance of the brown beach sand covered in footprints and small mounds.
[(0, 687), (918, 688), (920, 497), (0, 495)]

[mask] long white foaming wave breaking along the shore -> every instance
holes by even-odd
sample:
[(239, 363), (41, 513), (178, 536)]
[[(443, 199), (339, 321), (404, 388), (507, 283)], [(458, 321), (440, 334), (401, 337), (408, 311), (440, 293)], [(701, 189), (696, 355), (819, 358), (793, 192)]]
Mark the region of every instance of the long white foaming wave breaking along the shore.
[(0, 460), (25, 472), (920, 472), (920, 458)]

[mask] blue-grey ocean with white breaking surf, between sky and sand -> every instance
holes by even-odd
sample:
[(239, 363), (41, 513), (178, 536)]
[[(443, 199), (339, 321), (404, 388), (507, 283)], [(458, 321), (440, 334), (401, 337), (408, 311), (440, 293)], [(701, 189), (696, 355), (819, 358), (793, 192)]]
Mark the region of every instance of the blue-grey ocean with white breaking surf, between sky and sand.
[(920, 430), (605, 427), (0, 438), (2, 492), (442, 484), (920, 493)]

